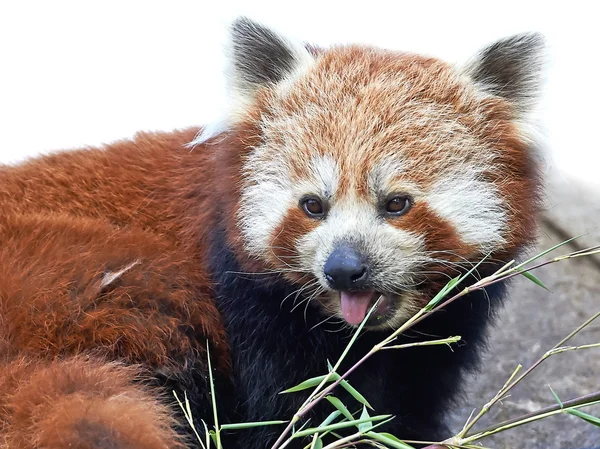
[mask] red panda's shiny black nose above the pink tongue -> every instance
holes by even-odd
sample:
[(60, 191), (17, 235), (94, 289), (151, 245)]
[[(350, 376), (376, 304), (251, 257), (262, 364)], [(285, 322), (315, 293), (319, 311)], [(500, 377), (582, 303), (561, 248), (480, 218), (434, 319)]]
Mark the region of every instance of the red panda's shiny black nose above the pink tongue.
[(356, 290), (365, 286), (368, 270), (360, 253), (349, 246), (335, 249), (325, 262), (323, 272), (331, 288)]

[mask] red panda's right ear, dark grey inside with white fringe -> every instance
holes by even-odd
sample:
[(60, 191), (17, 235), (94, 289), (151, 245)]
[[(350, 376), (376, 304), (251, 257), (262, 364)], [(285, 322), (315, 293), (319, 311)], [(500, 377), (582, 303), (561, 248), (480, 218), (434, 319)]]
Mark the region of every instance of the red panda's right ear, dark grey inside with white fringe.
[(520, 113), (527, 113), (539, 96), (543, 56), (541, 34), (518, 34), (483, 49), (465, 71), (481, 90), (503, 97)]

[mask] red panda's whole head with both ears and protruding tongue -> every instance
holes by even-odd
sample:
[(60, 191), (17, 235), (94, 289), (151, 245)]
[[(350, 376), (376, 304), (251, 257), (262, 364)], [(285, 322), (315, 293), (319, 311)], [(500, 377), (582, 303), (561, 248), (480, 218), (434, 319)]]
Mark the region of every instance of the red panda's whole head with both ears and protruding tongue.
[(244, 19), (233, 33), (230, 120), (260, 133), (240, 174), (245, 249), (326, 314), (357, 325), (379, 299), (368, 325), (398, 326), (464, 267), (532, 239), (522, 121), (537, 36), (461, 69), (368, 47), (309, 53)]

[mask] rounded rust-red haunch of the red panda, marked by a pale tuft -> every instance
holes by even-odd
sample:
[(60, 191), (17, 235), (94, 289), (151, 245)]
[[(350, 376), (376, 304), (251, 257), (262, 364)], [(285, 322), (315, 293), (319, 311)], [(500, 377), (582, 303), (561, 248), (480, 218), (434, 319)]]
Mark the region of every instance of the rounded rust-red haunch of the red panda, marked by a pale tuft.
[[(98, 348), (164, 367), (185, 364), (190, 350), (203, 352), (206, 337), (218, 336), (215, 350), (224, 354), (218, 313), (208, 289), (198, 291), (206, 280), (154, 234), (28, 214), (4, 217), (0, 239), (2, 336), (13, 348), (46, 356)], [(131, 263), (102, 286), (103, 276)]]

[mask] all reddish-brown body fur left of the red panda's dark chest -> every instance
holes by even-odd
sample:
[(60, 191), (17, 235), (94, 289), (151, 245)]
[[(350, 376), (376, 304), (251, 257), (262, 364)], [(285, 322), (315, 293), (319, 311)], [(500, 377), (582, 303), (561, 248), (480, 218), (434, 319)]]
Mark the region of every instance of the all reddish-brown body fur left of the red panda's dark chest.
[(171, 412), (134, 379), (177, 374), (207, 339), (229, 371), (196, 227), (214, 202), (198, 190), (209, 157), (185, 147), (196, 132), (0, 168), (3, 447), (178, 447)]

